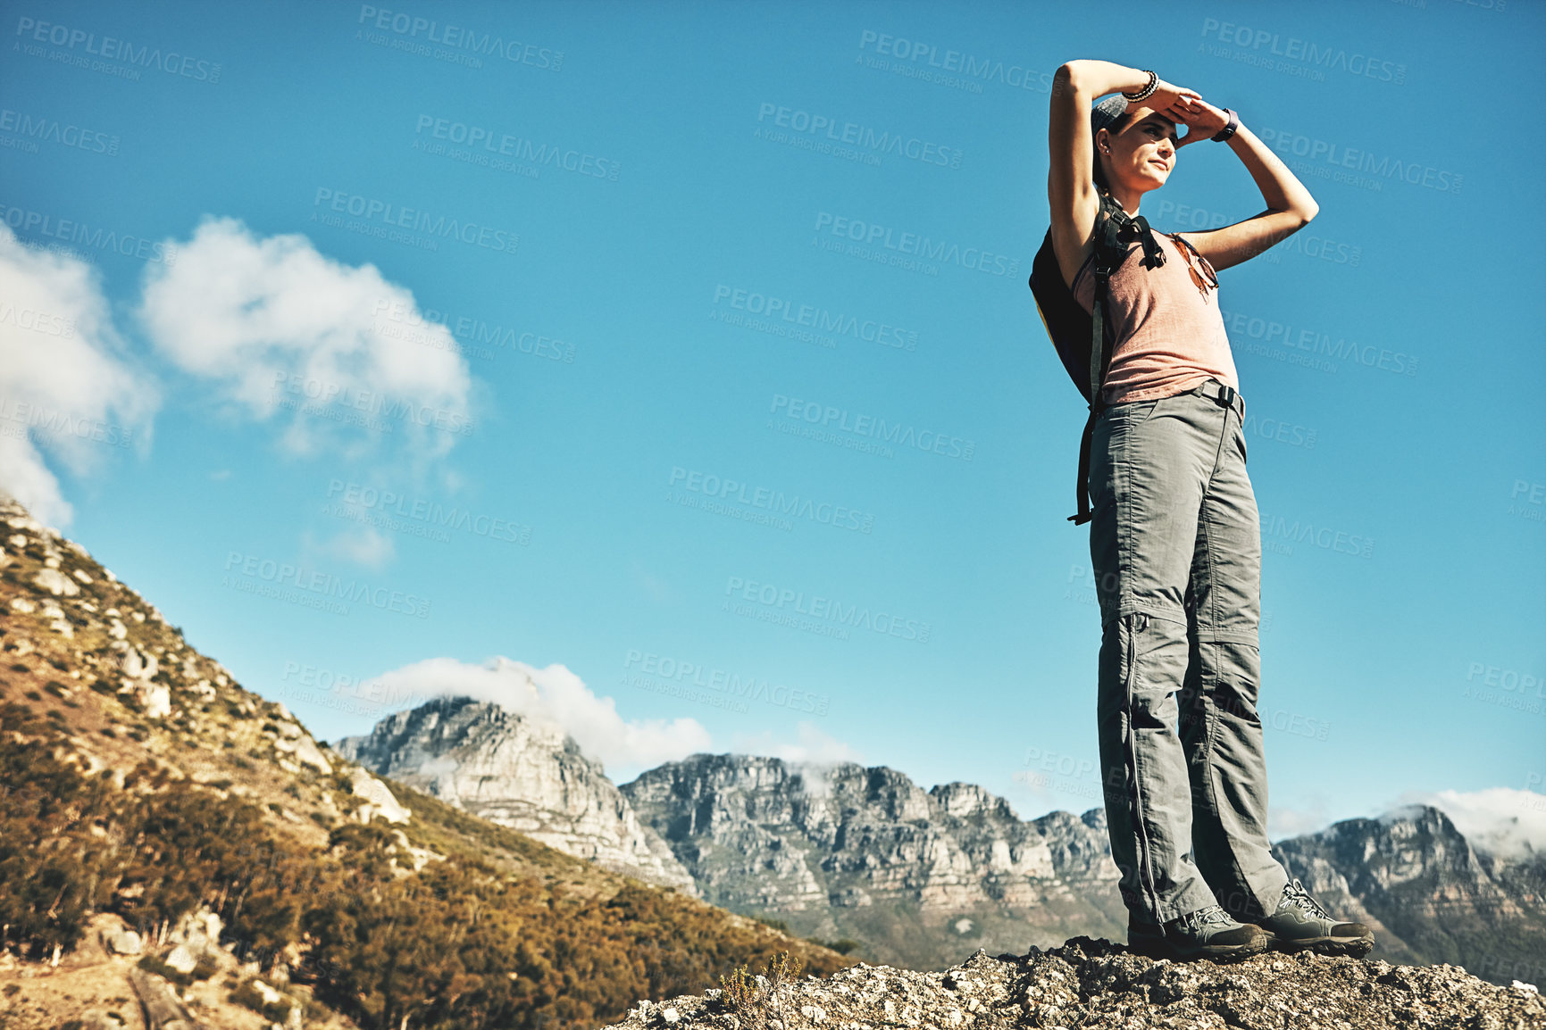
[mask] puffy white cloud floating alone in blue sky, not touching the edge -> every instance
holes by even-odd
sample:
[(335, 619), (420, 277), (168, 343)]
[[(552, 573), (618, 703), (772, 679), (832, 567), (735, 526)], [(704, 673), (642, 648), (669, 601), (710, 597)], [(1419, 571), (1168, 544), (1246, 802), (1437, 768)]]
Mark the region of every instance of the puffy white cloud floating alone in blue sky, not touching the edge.
[(359, 457), (394, 437), (436, 457), (470, 425), (472, 377), (450, 330), (376, 266), (232, 218), (206, 218), (176, 247), (173, 267), (147, 269), (145, 330), (220, 401), (284, 423), (288, 449)]

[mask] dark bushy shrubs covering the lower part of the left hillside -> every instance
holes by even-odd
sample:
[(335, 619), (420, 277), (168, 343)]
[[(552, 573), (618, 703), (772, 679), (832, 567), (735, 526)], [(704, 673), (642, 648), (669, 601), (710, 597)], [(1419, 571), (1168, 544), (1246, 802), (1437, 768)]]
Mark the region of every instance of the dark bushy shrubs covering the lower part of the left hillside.
[[(567, 856), (400, 784), (414, 812), (400, 832), (445, 856), (414, 876), (394, 868), (399, 831), (380, 823), (345, 823), (326, 845), (306, 845), (264, 820), (260, 803), (172, 780), (150, 761), (125, 777), (130, 789), (116, 789), (105, 769), (83, 777), (53, 758), (65, 741), (26, 706), (0, 701), (0, 784), (9, 788), (0, 795), (0, 944), (28, 957), (73, 948), (91, 911), (147, 933), (207, 905), (244, 961), (274, 962), (300, 945), (294, 981), (365, 1030), (405, 1019), (414, 1030), (603, 1025), (638, 998), (700, 993), (737, 967), (787, 962), (770, 934), (719, 910), (595, 879)], [(570, 894), (569, 882), (586, 888)], [(812, 961), (822, 973), (846, 965), (830, 953)], [(144, 962), (182, 982), (161, 965)], [(241, 991), (240, 981), (229, 987)]]

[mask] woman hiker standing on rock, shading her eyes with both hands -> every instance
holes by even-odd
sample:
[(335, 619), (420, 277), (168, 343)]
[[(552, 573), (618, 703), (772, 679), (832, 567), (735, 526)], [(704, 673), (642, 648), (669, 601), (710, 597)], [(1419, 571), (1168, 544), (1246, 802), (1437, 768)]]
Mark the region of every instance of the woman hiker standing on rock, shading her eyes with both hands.
[(1211, 232), (1150, 235), (1139, 221), (1107, 286), (1115, 346), (1091, 437), (1090, 559), (1105, 814), (1129, 944), (1180, 959), (1271, 945), (1365, 954), (1370, 930), (1331, 919), (1266, 839), (1262, 539), (1215, 275), (1319, 207), (1232, 111), (1152, 71), (1068, 62), (1054, 77), (1050, 136), (1053, 250), (1085, 310), (1102, 196), (1138, 216), (1183, 147), (1228, 141), (1266, 202)]

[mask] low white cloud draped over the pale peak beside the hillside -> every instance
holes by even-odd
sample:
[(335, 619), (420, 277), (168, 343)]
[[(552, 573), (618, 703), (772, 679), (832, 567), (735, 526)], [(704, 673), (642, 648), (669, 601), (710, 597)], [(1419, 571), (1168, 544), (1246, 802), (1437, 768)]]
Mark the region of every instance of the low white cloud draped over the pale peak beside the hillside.
[(386, 696), (465, 695), (557, 724), (614, 774), (710, 750), (708, 730), (697, 720), (625, 720), (612, 698), (597, 696), (558, 664), (533, 669), (502, 656), (481, 666), (430, 658), (383, 673), (380, 681)]

